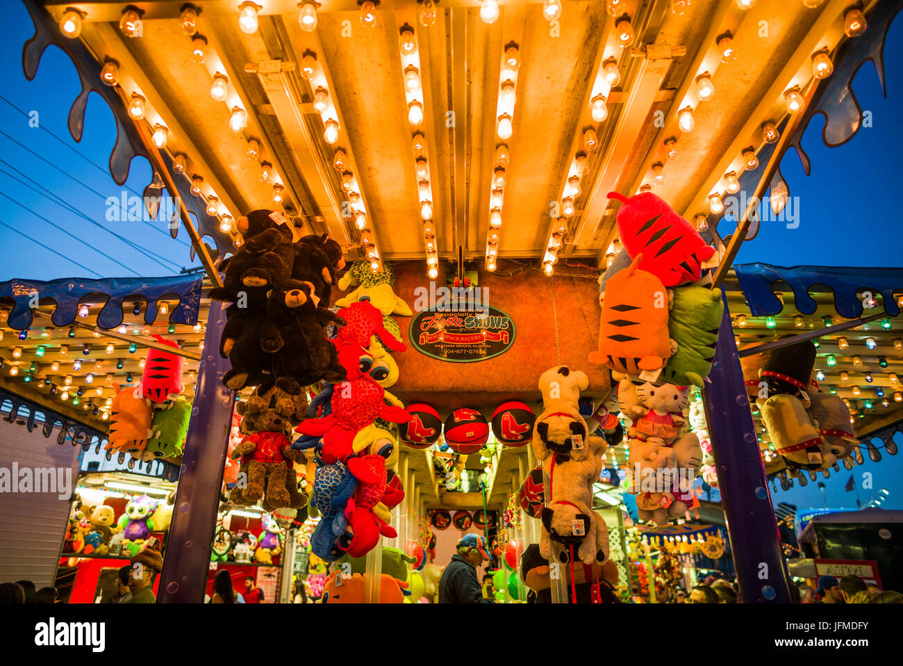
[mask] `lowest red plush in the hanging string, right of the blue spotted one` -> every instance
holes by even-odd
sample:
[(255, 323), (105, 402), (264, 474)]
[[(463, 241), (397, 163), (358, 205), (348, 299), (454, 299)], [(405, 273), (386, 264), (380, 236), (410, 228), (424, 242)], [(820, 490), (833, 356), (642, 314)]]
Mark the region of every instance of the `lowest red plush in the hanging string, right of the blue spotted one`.
[(354, 495), (345, 505), (345, 518), (348, 519), (345, 530), (351, 533), (351, 540), (345, 550), (352, 558), (362, 558), (377, 545), (380, 534), (389, 539), (398, 536), (391, 525), (373, 512), (373, 507), (383, 502), (386, 508), (392, 509), (405, 499), (405, 492), (399, 490), (397, 484), (395, 488), (386, 484), (386, 459), (383, 456), (362, 455), (351, 458), (349, 463), (351, 462), (355, 463), (358, 471), (366, 470), (368, 481), (355, 474), (358, 484)]

